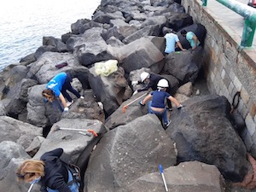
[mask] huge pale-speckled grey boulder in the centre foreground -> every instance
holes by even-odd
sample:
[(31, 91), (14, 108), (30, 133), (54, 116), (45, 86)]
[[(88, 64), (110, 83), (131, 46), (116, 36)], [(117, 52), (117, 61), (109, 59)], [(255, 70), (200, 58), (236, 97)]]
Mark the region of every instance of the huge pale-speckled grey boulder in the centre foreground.
[(84, 191), (123, 191), (158, 165), (176, 164), (172, 140), (154, 114), (109, 131), (91, 154), (84, 175)]

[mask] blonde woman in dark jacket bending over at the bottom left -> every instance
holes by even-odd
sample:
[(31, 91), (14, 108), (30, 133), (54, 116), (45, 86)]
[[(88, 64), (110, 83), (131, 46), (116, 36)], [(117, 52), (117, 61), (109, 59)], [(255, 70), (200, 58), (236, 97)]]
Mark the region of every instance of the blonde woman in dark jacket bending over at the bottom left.
[(73, 182), (73, 175), (60, 157), (62, 148), (46, 152), (40, 160), (25, 160), (17, 169), (19, 180), (26, 183), (40, 183), (42, 192), (79, 192), (79, 183)]

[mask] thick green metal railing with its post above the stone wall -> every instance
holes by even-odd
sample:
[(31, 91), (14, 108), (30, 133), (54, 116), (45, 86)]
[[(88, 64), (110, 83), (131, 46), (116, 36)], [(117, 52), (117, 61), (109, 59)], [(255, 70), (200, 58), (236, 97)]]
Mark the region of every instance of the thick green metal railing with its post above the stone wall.
[(255, 9), (236, 2), (235, 0), (216, 0), (222, 3), (227, 8), (235, 11), (237, 14), (244, 17), (245, 22), (241, 35), (241, 47), (251, 47), (253, 44), (253, 37), (256, 26), (256, 11)]

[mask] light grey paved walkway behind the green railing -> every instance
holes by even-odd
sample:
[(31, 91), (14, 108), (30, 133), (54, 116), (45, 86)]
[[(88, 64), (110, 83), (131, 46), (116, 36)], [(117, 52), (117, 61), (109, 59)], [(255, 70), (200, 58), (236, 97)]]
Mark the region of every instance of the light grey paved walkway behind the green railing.
[[(247, 0), (234, 0), (236, 2), (247, 5)], [(210, 12), (212, 12), (212, 16), (216, 18), (216, 20), (221, 22), (222, 26), (228, 26), (230, 29), (227, 29), (231, 37), (234, 37), (238, 44), (241, 44), (241, 36), (242, 30), (244, 26), (244, 19), (241, 15), (236, 14), (236, 12), (231, 9), (225, 7), (222, 3), (218, 3), (216, 0), (208, 0), (207, 7)], [(255, 9), (256, 10), (256, 9)], [(256, 53), (256, 33), (253, 38), (253, 46), (249, 49)], [(252, 50), (253, 49), (253, 50)]]

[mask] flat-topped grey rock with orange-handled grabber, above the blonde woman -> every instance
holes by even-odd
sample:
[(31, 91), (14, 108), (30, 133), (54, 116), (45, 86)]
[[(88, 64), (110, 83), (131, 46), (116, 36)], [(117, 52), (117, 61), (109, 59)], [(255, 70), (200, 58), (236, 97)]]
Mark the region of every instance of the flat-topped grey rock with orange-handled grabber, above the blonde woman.
[[(79, 129), (79, 131), (59, 128)], [(93, 130), (97, 133), (97, 137), (85, 136), (80, 133), (80, 130), (84, 130), (81, 131), (83, 133), (88, 133), (86, 130)], [(63, 148), (66, 155), (63, 155), (63, 160), (79, 166), (84, 172), (91, 151), (106, 131), (105, 126), (99, 120), (61, 119), (51, 127), (51, 131), (33, 158), (39, 159), (47, 151)]]

